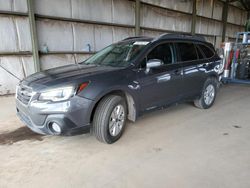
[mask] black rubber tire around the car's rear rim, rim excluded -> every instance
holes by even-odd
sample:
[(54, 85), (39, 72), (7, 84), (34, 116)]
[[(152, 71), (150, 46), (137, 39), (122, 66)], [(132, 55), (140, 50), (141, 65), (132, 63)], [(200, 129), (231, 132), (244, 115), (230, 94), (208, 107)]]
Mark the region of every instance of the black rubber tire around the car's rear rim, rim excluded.
[[(194, 100), (194, 105), (200, 109), (208, 109), (211, 106), (213, 106), (216, 95), (217, 95), (218, 85), (219, 85), (218, 80), (216, 78), (208, 78), (204, 83), (201, 96), (198, 99)], [(213, 98), (211, 99), (211, 101), (209, 100), (209, 103), (206, 102), (207, 101), (206, 100), (206, 91), (207, 91), (208, 87), (213, 87), (213, 89), (214, 89)]]

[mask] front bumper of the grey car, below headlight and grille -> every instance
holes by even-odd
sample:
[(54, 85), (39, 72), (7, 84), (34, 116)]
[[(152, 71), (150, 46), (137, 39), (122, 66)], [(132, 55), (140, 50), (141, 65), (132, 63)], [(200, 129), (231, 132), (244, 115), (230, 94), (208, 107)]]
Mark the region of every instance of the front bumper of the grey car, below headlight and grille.
[[(25, 105), (16, 99), (17, 116), (32, 131), (47, 135), (76, 135), (90, 131), (91, 112), (94, 101), (74, 96), (63, 102), (40, 102), (31, 100)], [(60, 126), (60, 133), (51, 125)]]

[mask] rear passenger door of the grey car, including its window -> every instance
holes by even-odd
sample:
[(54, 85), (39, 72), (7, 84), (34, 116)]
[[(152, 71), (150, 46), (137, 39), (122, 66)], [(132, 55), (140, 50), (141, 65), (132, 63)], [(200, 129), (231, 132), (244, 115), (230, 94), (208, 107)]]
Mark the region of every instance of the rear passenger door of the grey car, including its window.
[(176, 46), (183, 67), (183, 95), (193, 97), (200, 93), (206, 79), (204, 54), (192, 42), (178, 42)]

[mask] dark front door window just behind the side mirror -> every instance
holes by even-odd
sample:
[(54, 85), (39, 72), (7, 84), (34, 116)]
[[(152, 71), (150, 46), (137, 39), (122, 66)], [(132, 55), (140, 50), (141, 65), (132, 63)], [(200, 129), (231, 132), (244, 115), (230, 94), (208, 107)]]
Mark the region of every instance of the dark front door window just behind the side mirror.
[(160, 59), (165, 65), (174, 62), (174, 51), (171, 43), (160, 44), (155, 47), (147, 56), (147, 60)]

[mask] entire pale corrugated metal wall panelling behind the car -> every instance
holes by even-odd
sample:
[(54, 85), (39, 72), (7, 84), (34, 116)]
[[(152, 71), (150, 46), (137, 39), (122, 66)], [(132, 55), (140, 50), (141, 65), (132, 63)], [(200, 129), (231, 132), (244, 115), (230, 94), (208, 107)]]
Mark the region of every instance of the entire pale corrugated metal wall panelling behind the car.
[[(133, 0), (34, 0), (34, 4), (43, 70), (83, 61), (135, 35)], [(192, 0), (141, 0), (141, 34), (190, 33), (192, 6)], [(197, 0), (195, 31), (216, 46), (221, 43), (222, 10), (219, 0)], [(0, 64), (20, 79), (35, 70), (27, 13), (26, 0), (0, 0)], [(229, 6), (227, 37), (243, 31), (246, 19), (246, 11)], [(17, 83), (0, 67), (0, 95), (14, 93)]]

